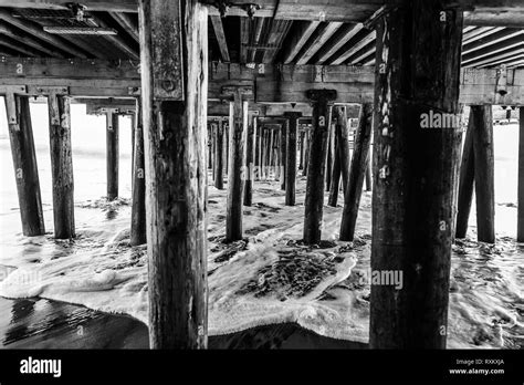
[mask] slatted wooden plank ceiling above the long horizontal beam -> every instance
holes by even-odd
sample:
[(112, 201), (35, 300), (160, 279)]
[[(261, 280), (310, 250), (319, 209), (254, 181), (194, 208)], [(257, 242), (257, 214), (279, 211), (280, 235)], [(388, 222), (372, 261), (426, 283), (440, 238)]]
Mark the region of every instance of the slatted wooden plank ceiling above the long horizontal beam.
[[(210, 12), (210, 60), (247, 64), (375, 63), (375, 32), (366, 28), (366, 20), (370, 17), (369, 9), (355, 8), (355, 22), (297, 20), (291, 8), (286, 10), (285, 4), (281, 6), (276, 18), (275, 7), (273, 13), (265, 10), (252, 19), (238, 15), (239, 12), (231, 12), (226, 18), (221, 18), (218, 12)], [(492, 11), (491, 18), (494, 21), (490, 25), (490, 15), (485, 12), (468, 12), (462, 65), (524, 66), (522, 18), (513, 15), (514, 20), (504, 24), (504, 21), (501, 22), (501, 13)], [(515, 12), (520, 14), (520, 11)], [(511, 14), (505, 14), (503, 20), (511, 18)], [(45, 32), (44, 28), (50, 27), (73, 30), (94, 28), (114, 34)], [(85, 10), (83, 14), (78, 14), (69, 9), (0, 7), (0, 55), (138, 62), (137, 13)]]

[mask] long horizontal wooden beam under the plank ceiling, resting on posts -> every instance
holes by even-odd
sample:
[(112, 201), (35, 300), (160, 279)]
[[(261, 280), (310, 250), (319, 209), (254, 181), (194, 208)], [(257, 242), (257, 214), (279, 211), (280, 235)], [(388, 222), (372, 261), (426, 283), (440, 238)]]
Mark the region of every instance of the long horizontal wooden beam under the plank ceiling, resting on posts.
[[(270, 65), (249, 69), (241, 64), (211, 63), (208, 100), (226, 98), (224, 87), (252, 87), (247, 96), (258, 104), (308, 104), (307, 90), (331, 89), (338, 103), (371, 103), (375, 69), (347, 65)], [(497, 93), (503, 83), (504, 95)], [(18, 59), (0, 62), (0, 84), (27, 85), (29, 94), (39, 86), (66, 86), (71, 96), (133, 97), (139, 93), (140, 79), (136, 64), (102, 60)], [(503, 93), (504, 93), (503, 92)], [(524, 105), (524, 69), (462, 69), (460, 102), (463, 104)], [(227, 103), (224, 104), (227, 105)], [(306, 111), (301, 111), (307, 115)]]

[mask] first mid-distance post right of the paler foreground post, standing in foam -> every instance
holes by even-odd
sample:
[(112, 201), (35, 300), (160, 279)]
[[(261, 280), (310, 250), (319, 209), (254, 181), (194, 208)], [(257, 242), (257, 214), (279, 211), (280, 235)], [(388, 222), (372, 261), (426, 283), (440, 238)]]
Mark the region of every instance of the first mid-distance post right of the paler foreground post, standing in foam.
[(242, 239), (242, 167), (244, 166), (244, 143), (248, 132), (248, 102), (242, 101), (242, 90), (233, 92), (230, 103), (228, 208), (226, 214), (226, 241)]

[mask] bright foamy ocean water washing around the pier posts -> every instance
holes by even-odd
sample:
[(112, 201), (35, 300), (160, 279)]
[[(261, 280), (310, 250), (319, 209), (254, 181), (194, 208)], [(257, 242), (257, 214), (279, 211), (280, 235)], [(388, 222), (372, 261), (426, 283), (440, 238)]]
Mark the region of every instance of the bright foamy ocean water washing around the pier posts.
[[(3, 101), (0, 101), (3, 102)], [(15, 267), (0, 288), (10, 298), (42, 295), (106, 312), (125, 313), (147, 322), (147, 269), (145, 249), (129, 248), (130, 209), (124, 199), (104, 205), (105, 117), (87, 116), (83, 105), (72, 105), (75, 219), (78, 238), (73, 242), (52, 238), (51, 169), (48, 111), (32, 104), (31, 115), (40, 173), (46, 236), (21, 235), (8, 127), (0, 103), (0, 264)], [(130, 121), (120, 117), (120, 196), (130, 197)], [(523, 346), (523, 247), (516, 233), (517, 144), (516, 124), (495, 126), (494, 247), (475, 239), (474, 202), (469, 239), (453, 247), (450, 293), (450, 347)], [(211, 183), (211, 180), (209, 180)], [(369, 267), (370, 197), (361, 199), (357, 235), (359, 248), (340, 252), (335, 244), (342, 207), (324, 210), (323, 239), (333, 246), (305, 250), (293, 243), (302, 235), (305, 178), (297, 180), (297, 206), (283, 205), (280, 183), (255, 183), (254, 205), (244, 209), (247, 244), (224, 248), (226, 191), (209, 188), (210, 333), (230, 334), (271, 323), (295, 322), (317, 334), (367, 342), (368, 285), (356, 284), (355, 274)], [(339, 202), (343, 197), (339, 197)], [(290, 243), (291, 241), (291, 243)], [(242, 284), (271, 266), (279, 256), (301, 252), (344, 259), (335, 275), (325, 278), (304, 298), (253, 298), (239, 294)], [(29, 277), (30, 282), (23, 279)], [(34, 279), (31, 279), (34, 278)], [(17, 281), (18, 280), (18, 281)], [(2, 281), (0, 279), (0, 281)], [(1, 287), (1, 285), (0, 285)], [(271, 293), (270, 293), (271, 294)], [(0, 315), (1, 318), (2, 315)]]

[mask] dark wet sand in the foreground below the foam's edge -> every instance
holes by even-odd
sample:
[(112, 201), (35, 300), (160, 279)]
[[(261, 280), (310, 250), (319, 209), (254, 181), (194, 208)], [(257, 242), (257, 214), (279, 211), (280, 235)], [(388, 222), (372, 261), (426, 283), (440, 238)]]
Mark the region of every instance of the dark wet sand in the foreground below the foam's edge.
[[(44, 299), (0, 298), (3, 348), (148, 348), (145, 324), (129, 316)], [(296, 324), (277, 324), (212, 336), (209, 348), (366, 348), (323, 337)]]

